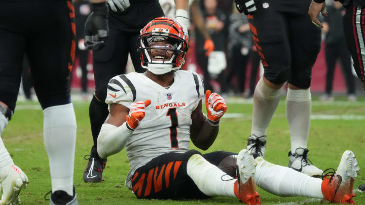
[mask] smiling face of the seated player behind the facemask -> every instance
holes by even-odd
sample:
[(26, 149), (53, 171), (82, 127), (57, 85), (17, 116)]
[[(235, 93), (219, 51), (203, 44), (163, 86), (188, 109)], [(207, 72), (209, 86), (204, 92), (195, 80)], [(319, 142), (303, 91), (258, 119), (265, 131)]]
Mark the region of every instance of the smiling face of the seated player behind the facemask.
[(166, 42), (166, 40), (159, 40), (150, 43), (152, 61), (169, 61), (173, 55), (173, 46)]

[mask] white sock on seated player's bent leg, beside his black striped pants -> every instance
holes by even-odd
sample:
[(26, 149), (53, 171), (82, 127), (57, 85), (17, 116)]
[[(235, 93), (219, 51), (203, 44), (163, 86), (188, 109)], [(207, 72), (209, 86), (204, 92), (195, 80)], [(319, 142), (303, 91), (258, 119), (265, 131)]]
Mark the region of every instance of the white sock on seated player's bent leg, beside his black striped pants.
[[(199, 154), (194, 154), (189, 158), (187, 173), (199, 190), (207, 196), (236, 197), (234, 194), (234, 183), (237, 180), (228, 176)], [(233, 180), (223, 181), (222, 176), (224, 175), (227, 175), (223, 178), (224, 180)]]

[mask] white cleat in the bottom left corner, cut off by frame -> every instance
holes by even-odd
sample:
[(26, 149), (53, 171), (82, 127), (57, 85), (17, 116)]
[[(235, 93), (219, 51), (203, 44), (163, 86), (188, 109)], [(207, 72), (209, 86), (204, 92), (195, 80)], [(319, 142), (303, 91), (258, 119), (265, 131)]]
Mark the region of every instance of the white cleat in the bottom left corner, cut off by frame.
[(2, 198), (0, 204), (20, 204), (19, 193), (28, 185), (28, 177), (17, 166), (12, 166), (8, 176), (1, 182)]

